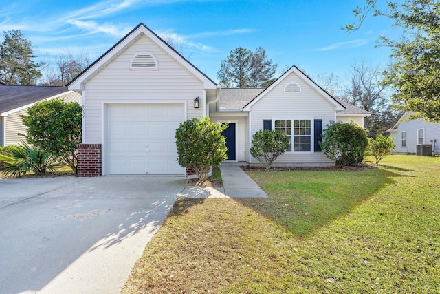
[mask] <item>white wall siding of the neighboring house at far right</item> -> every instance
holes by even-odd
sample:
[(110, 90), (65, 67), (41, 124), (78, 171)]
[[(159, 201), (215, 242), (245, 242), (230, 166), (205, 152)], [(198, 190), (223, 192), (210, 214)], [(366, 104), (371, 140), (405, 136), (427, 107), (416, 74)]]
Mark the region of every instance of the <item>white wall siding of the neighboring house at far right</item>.
[[(417, 151), (417, 129), (425, 129), (425, 142), (431, 144), (435, 153), (440, 153), (440, 123), (426, 123), (423, 119), (402, 121), (397, 127), (397, 132), (390, 136), (396, 144), (393, 153), (415, 154)], [(401, 132), (406, 131), (406, 147), (401, 147)], [(431, 142), (437, 140), (437, 142)]]

